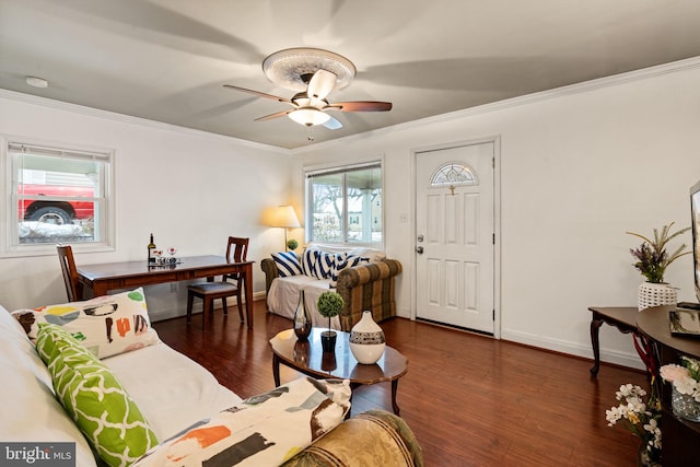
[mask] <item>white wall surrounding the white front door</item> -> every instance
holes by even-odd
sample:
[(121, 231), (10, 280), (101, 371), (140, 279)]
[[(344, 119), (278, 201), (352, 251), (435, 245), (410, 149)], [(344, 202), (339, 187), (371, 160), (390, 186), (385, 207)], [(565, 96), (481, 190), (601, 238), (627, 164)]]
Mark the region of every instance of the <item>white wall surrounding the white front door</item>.
[[(643, 278), (629, 248), (640, 242), (625, 232), (690, 225), (688, 188), (700, 179), (699, 66), (598, 80), (294, 152), (305, 166), (385, 157), (386, 250), (405, 266), (398, 308), (411, 316), (412, 152), (499, 137), (501, 336), (592, 357), (587, 307), (637, 304)], [(680, 300), (695, 300), (689, 256), (666, 280), (681, 289)], [(604, 326), (600, 345), (603, 360), (642, 367), (629, 335)]]

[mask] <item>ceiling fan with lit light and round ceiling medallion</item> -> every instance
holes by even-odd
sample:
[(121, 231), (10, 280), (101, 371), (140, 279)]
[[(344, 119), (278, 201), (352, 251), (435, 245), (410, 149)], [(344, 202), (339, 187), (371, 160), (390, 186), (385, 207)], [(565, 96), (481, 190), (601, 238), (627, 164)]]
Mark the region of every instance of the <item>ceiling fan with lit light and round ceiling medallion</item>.
[[(322, 68), (323, 67), (323, 68)], [(306, 127), (323, 125), (331, 130), (342, 128), (342, 124), (327, 114), (337, 112), (387, 112), (390, 102), (350, 101), (329, 103), (326, 98), (334, 89), (345, 87), (354, 77), (355, 68), (347, 58), (322, 50), (294, 48), (280, 50), (262, 61), (262, 69), (270, 81), (292, 90), (302, 90), (291, 98), (280, 97), (246, 87), (224, 84), (224, 87), (254, 94), (289, 104), (292, 108), (258, 117), (255, 121), (289, 116)]]

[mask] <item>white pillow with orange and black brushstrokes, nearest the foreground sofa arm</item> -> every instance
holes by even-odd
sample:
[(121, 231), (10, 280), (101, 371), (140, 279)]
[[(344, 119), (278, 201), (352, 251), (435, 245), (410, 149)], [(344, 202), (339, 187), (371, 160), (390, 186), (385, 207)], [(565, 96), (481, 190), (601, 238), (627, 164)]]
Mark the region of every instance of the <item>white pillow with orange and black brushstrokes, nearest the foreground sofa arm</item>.
[(278, 466), (342, 422), (349, 381), (300, 378), (202, 420), (133, 466)]

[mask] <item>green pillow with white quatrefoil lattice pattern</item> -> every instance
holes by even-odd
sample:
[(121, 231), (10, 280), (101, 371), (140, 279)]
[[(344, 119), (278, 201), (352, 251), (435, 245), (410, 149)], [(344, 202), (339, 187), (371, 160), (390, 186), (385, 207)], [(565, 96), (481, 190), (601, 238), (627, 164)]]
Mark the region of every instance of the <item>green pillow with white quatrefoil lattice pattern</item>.
[(58, 400), (105, 463), (128, 466), (158, 444), (112, 371), (65, 329), (39, 324), (36, 350)]

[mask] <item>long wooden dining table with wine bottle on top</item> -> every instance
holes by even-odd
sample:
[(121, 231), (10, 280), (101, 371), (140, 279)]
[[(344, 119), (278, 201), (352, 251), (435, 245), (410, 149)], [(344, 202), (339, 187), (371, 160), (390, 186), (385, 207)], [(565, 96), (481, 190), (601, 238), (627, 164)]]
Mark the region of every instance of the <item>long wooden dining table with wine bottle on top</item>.
[(149, 266), (147, 261), (109, 262), (78, 266), (78, 280), (94, 296), (110, 290), (131, 289), (164, 282), (178, 282), (238, 272), (245, 284), (245, 313), (248, 328), (253, 328), (253, 262), (229, 262), (223, 256), (191, 256), (179, 258), (177, 265)]

